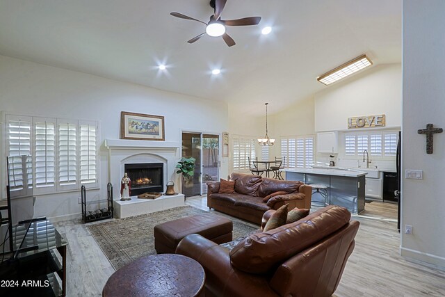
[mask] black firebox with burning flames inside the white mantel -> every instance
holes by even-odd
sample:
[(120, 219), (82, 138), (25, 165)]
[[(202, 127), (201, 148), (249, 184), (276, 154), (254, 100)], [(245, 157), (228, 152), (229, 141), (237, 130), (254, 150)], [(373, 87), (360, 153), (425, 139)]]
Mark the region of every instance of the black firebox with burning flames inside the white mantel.
[(131, 179), (131, 196), (146, 192), (163, 192), (163, 163), (129, 163), (124, 170)]

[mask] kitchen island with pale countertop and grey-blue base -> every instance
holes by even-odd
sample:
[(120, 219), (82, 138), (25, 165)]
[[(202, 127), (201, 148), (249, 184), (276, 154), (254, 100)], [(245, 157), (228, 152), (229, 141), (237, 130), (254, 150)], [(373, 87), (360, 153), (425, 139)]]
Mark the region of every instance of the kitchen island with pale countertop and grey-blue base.
[(346, 207), (353, 214), (364, 211), (366, 172), (338, 168), (286, 168), (286, 180), (327, 186), (329, 204)]

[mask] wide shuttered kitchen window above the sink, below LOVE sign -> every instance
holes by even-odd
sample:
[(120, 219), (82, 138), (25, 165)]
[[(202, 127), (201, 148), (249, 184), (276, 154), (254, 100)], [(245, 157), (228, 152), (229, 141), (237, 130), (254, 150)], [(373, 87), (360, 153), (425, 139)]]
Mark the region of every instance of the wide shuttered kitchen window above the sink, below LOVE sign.
[(370, 156), (395, 156), (398, 131), (359, 131), (344, 134), (346, 156), (362, 156), (364, 150)]

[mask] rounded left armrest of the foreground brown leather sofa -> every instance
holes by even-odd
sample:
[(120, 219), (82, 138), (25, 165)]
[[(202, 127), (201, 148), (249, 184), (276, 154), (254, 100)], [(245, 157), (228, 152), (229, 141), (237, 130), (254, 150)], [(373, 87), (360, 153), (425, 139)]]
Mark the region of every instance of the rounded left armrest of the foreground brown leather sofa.
[(199, 262), (206, 273), (205, 287), (214, 296), (278, 296), (265, 275), (238, 271), (230, 264), (229, 250), (199, 234), (190, 234), (179, 242), (176, 253)]

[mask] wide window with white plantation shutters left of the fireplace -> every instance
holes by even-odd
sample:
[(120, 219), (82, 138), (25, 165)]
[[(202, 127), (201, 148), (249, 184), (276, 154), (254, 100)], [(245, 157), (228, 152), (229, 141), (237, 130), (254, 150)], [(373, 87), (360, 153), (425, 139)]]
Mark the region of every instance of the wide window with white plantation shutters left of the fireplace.
[[(35, 194), (98, 186), (97, 122), (6, 115), (6, 126), (6, 154), (17, 164), (30, 156), (26, 171)], [(10, 172), (11, 190), (18, 190), (22, 169)]]

